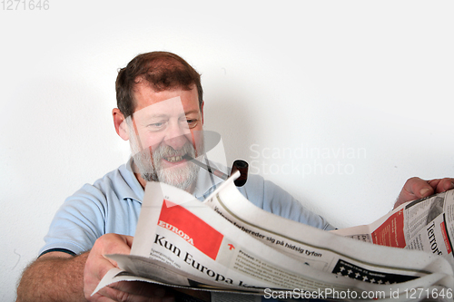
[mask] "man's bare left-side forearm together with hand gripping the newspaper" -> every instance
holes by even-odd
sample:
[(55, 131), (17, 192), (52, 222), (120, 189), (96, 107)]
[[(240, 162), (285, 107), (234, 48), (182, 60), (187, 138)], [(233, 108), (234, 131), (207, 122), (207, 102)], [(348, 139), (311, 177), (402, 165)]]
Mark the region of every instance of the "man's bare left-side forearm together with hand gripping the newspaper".
[(99, 281), (111, 268), (114, 260), (107, 254), (129, 254), (133, 237), (105, 234), (94, 242), (93, 248), (79, 256), (50, 252), (38, 258), (25, 270), (17, 287), (16, 302), (49, 301), (172, 301), (165, 288), (146, 282), (117, 282), (91, 296)]

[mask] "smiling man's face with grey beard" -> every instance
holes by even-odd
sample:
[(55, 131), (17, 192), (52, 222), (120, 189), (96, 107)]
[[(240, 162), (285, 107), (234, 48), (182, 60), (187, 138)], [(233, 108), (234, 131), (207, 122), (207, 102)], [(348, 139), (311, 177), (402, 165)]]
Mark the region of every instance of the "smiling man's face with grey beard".
[(202, 154), (202, 112), (195, 86), (156, 93), (146, 83), (134, 89), (135, 112), (128, 117), (134, 163), (144, 180), (162, 181), (183, 190), (199, 168), (183, 159)]

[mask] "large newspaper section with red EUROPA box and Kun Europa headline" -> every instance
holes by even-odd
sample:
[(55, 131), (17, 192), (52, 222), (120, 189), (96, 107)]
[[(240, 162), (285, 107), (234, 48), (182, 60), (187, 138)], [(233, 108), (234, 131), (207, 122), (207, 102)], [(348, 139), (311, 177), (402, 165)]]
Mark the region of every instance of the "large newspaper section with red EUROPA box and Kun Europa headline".
[[(446, 259), (387, 248), (283, 219), (254, 206), (233, 175), (201, 202), (149, 182), (131, 255), (94, 292), (121, 280), (142, 280), (212, 292), (263, 297), (412, 300), (408, 290), (452, 288)], [(406, 293), (407, 290), (407, 293)], [(281, 295), (282, 294), (282, 295)], [(366, 294), (366, 295), (365, 295)]]

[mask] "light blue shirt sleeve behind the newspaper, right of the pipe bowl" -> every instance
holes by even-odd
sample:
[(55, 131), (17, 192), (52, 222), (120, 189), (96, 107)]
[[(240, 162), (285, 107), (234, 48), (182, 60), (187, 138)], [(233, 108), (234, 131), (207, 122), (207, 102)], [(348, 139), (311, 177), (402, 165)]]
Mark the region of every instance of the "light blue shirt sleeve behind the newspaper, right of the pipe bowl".
[(242, 194), (257, 207), (279, 215), (286, 219), (295, 220), (318, 229), (336, 229), (326, 219), (313, 213), (295, 200), (291, 194), (262, 176), (250, 175), (244, 187), (240, 188)]

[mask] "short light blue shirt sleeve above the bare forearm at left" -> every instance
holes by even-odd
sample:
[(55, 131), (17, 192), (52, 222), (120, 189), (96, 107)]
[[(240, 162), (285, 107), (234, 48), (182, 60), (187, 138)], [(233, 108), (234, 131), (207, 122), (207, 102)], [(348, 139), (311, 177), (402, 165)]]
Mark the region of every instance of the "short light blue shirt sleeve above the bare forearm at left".
[(81, 254), (92, 248), (104, 235), (105, 204), (104, 193), (92, 185), (76, 191), (55, 213), (40, 255), (50, 249)]

